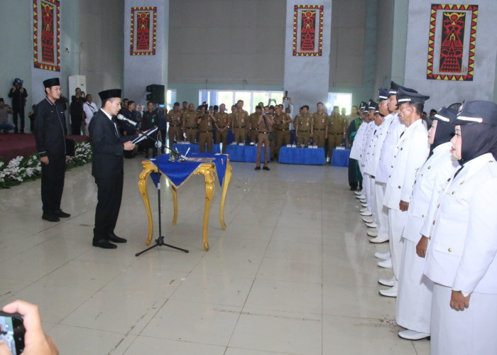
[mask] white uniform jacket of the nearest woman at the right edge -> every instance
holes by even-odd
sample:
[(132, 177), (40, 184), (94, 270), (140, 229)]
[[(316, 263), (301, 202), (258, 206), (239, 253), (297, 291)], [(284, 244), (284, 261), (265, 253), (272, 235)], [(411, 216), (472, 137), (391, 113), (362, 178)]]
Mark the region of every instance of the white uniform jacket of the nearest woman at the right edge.
[(430, 280), (453, 290), (497, 294), (496, 201), (497, 163), (491, 153), (465, 163), (447, 183), (423, 269)]

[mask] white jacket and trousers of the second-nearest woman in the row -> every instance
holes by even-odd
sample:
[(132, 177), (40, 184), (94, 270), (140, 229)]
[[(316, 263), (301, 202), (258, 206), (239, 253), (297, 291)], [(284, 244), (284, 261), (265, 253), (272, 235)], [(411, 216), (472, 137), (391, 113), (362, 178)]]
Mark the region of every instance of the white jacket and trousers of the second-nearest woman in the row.
[(403, 258), (398, 280), (395, 320), (401, 327), (430, 334), (433, 283), (422, 273), (425, 258), (416, 254), (420, 230), (426, 219), (432, 194), (439, 191), (459, 167), (452, 158), (452, 143), (437, 146), (418, 170), (403, 231)]

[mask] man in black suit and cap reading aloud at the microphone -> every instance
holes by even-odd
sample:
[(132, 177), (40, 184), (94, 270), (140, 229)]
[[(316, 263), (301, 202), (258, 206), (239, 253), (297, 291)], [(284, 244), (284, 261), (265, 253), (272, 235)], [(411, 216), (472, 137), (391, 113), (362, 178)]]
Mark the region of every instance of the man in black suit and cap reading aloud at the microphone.
[(93, 246), (116, 249), (114, 243), (126, 243), (126, 239), (114, 234), (123, 192), (123, 153), (135, 145), (134, 136), (122, 137), (114, 121), (121, 109), (121, 90), (110, 89), (99, 92), (102, 109), (89, 123), (89, 140), (92, 145), (92, 175), (97, 183), (97, 209), (93, 229)]

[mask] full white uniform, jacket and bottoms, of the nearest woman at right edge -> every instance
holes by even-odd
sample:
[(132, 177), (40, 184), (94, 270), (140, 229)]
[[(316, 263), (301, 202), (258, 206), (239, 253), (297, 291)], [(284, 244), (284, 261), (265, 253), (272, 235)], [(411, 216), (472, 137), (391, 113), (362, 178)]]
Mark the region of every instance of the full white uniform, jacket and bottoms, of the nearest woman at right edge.
[[(432, 280), (431, 354), (497, 354), (497, 163), (463, 165), (439, 196), (423, 273)], [(471, 293), (452, 310), (451, 290)]]

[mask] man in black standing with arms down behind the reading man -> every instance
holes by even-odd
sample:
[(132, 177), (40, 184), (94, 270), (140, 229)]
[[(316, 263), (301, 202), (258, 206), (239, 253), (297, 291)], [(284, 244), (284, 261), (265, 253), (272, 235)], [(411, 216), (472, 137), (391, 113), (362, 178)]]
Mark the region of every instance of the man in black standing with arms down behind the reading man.
[(58, 77), (45, 80), (45, 99), (37, 106), (35, 115), (36, 150), (41, 162), (41, 201), (43, 215), (49, 222), (59, 222), (60, 217), (70, 214), (62, 212), (60, 200), (64, 189), (65, 176), (65, 116), (58, 104), (60, 99), (60, 82)]

